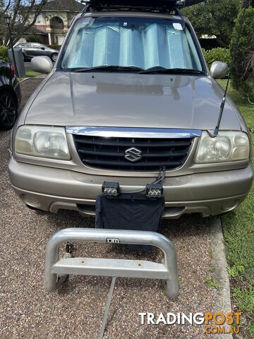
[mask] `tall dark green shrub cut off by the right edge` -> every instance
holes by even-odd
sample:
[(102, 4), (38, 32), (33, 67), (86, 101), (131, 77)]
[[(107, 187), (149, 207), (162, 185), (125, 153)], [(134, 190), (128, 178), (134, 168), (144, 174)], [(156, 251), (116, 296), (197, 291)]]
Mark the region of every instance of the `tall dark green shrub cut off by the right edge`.
[[(243, 10), (239, 12), (230, 44), (231, 52), (236, 46), (238, 30), (240, 28)], [(232, 83), (234, 88), (254, 98), (254, 8), (246, 9), (243, 31), (236, 50), (236, 59), (232, 70)]]

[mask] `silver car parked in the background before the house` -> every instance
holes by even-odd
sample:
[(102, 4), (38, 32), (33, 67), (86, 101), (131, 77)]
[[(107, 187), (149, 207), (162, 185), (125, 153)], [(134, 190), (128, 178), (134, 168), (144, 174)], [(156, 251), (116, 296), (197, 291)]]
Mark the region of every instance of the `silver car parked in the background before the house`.
[(30, 61), (33, 57), (47, 56), (55, 62), (59, 54), (57, 49), (47, 47), (45, 44), (39, 44), (37, 42), (24, 42), (17, 44), (15, 48), (22, 48), (24, 61)]

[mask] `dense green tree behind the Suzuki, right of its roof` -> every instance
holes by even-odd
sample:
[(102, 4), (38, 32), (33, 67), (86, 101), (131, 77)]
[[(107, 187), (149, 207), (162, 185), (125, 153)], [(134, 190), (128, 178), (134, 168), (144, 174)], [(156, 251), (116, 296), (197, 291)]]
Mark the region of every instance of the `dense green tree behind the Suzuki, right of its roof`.
[(219, 45), (228, 47), (240, 6), (239, 0), (205, 0), (184, 8), (183, 13), (198, 35), (216, 35)]

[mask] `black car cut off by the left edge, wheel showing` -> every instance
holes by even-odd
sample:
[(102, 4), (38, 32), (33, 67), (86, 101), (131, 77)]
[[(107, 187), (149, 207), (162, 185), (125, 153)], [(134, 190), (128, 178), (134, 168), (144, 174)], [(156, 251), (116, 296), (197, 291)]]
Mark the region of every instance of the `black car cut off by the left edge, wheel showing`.
[(13, 128), (20, 100), (20, 85), (14, 66), (0, 60), (0, 129)]

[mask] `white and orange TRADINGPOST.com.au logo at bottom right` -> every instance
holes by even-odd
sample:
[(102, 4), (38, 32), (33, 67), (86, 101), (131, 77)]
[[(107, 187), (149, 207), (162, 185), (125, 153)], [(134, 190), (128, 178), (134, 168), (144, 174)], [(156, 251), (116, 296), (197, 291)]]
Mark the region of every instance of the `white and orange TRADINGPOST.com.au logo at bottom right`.
[(205, 334), (238, 334), (240, 332), (240, 318), (241, 312), (229, 312), (222, 313), (212, 312), (203, 313), (167, 313), (167, 314), (154, 314), (149, 312), (143, 312), (138, 314), (141, 317), (141, 324), (145, 325), (174, 325), (179, 326), (190, 323), (191, 325), (205, 325)]

